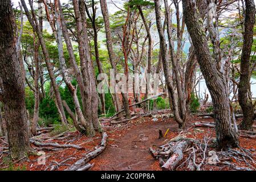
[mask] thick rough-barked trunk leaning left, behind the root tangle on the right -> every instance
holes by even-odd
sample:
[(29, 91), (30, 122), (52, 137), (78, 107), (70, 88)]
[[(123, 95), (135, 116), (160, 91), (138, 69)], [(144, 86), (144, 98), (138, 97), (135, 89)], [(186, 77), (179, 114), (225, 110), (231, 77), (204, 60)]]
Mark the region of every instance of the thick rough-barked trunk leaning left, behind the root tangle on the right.
[(210, 55), (203, 22), (195, 3), (192, 0), (182, 0), (182, 5), (185, 23), (196, 50), (197, 60), (213, 99), (218, 148), (237, 147), (239, 140), (237, 133), (231, 126), (226, 81), (223, 75), (218, 72), (217, 64), (214, 63)]

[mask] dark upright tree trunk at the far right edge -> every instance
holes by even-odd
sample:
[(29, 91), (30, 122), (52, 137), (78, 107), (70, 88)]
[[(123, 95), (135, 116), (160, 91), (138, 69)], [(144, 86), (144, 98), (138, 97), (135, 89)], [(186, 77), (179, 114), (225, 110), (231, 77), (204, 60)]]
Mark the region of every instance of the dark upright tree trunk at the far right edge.
[(253, 45), (255, 23), (255, 5), (253, 0), (246, 0), (245, 33), (241, 55), (240, 81), (238, 85), (238, 101), (243, 111), (243, 121), (239, 125), (242, 130), (252, 130), (255, 119), (253, 101), (250, 99), (250, 54)]

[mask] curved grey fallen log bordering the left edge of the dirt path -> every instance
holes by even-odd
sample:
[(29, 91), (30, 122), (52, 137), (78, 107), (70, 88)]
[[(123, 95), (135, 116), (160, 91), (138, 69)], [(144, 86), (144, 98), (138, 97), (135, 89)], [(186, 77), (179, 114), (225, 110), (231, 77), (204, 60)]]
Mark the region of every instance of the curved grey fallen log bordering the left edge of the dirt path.
[(65, 171), (77, 171), (78, 169), (84, 168), (90, 160), (96, 158), (96, 156), (105, 150), (105, 147), (107, 146), (107, 138), (107, 133), (103, 133), (100, 146), (95, 151), (86, 154), (83, 159), (76, 161), (73, 166), (65, 169)]

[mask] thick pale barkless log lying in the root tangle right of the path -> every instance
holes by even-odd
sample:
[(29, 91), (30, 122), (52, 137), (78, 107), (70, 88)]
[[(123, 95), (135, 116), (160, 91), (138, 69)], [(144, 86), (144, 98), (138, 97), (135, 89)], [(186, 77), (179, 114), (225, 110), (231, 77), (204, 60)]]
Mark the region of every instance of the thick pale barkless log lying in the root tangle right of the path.
[(162, 166), (162, 169), (172, 171), (176, 169), (178, 163), (183, 159), (183, 151), (189, 144), (190, 142), (188, 141), (181, 141), (173, 146), (171, 148), (173, 155), (170, 156), (170, 158), (165, 162), (164, 166)]

